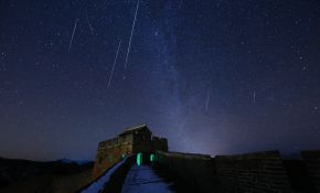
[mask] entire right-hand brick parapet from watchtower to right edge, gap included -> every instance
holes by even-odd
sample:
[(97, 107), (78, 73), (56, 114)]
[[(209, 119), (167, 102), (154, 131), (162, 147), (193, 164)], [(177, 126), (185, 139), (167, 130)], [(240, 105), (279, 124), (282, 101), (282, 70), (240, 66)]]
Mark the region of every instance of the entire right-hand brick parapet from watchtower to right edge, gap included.
[(235, 156), (161, 152), (157, 162), (201, 192), (320, 192), (320, 151), (286, 160), (279, 151)]

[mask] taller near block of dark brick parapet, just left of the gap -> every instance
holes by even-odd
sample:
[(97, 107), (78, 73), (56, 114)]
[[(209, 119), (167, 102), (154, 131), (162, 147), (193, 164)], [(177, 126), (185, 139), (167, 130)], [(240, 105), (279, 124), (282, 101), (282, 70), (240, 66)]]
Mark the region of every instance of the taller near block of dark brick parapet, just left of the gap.
[(221, 192), (292, 192), (280, 153), (216, 156)]

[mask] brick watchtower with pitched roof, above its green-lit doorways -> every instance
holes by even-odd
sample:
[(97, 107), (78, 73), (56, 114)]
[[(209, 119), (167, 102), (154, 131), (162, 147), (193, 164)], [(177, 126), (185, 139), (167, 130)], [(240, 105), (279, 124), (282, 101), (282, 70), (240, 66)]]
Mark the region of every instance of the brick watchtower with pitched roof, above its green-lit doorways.
[(168, 140), (166, 138), (152, 136), (146, 125), (126, 129), (116, 138), (99, 142), (93, 178), (103, 174), (125, 156), (150, 154), (156, 151), (168, 151)]

